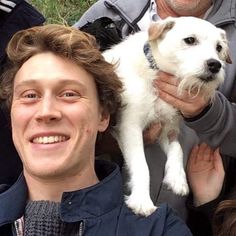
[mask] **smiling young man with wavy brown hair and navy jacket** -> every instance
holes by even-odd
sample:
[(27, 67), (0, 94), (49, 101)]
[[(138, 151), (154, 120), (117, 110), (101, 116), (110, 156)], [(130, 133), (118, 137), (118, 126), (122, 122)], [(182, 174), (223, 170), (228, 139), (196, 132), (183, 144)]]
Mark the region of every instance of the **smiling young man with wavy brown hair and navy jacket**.
[(1, 236), (191, 235), (166, 204), (135, 215), (119, 168), (95, 162), (97, 134), (120, 108), (122, 84), (92, 36), (34, 27), (15, 34), (7, 53), (0, 95), (23, 173), (0, 194)]

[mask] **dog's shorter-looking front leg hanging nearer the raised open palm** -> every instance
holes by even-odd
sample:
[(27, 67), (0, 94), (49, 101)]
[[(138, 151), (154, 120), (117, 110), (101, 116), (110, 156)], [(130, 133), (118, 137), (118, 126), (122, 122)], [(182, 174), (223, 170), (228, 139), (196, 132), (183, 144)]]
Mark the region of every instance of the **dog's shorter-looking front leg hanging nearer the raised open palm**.
[(174, 193), (184, 196), (188, 194), (189, 188), (183, 165), (183, 151), (177, 134), (177, 130), (167, 128), (160, 136), (160, 144), (167, 156), (163, 183)]

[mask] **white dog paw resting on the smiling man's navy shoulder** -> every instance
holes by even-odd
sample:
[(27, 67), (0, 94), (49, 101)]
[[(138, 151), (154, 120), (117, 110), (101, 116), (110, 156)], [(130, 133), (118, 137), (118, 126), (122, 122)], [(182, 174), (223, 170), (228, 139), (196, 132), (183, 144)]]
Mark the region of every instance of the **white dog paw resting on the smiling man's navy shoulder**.
[(135, 194), (126, 196), (125, 203), (136, 215), (142, 215), (146, 217), (151, 215), (157, 209), (150, 197), (141, 198)]

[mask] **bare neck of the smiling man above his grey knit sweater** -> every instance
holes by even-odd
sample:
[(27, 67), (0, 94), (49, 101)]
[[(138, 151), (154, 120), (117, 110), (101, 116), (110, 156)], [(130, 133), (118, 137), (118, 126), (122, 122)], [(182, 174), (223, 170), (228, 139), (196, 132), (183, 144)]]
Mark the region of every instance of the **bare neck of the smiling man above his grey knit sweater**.
[(61, 202), (63, 192), (77, 191), (99, 182), (96, 173), (80, 173), (58, 178), (39, 178), (24, 173), (31, 201)]

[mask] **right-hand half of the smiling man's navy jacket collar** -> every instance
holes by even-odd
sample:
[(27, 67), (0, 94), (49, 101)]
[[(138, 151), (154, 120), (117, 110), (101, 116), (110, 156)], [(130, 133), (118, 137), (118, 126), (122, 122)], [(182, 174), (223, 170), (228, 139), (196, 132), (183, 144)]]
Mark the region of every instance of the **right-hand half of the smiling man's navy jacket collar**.
[(117, 165), (96, 161), (95, 170), (101, 180), (98, 184), (79, 191), (63, 193), (61, 219), (75, 222), (97, 218), (121, 205), (122, 178)]

